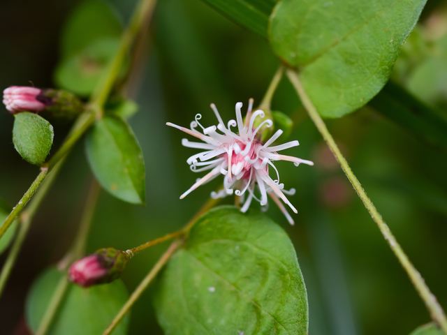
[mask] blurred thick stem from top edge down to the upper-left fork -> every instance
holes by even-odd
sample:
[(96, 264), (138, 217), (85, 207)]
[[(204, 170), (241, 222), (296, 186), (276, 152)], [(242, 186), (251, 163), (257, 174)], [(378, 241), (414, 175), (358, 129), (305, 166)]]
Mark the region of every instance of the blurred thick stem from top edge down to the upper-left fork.
[(150, 20), (156, 0), (141, 0), (138, 8), (136, 8), (129, 27), (124, 31), (119, 45), (118, 52), (115, 58), (110, 63), (110, 68), (107, 75), (102, 78), (101, 82), (96, 87), (93, 94), (94, 104), (102, 108), (105, 101), (112, 90), (113, 84), (117, 79), (119, 72), (121, 71), (122, 64), (126, 54), (129, 52), (131, 45), (133, 44), (136, 36), (140, 32), (140, 28), (145, 23), (145, 21)]

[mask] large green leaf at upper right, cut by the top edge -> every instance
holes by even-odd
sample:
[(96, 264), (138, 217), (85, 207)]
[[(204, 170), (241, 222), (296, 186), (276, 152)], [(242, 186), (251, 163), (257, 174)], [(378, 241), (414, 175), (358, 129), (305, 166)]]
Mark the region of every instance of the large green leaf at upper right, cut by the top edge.
[(425, 1), (283, 0), (270, 17), (270, 43), (299, 69), (318, 112), (342, 117), (385, 85)]

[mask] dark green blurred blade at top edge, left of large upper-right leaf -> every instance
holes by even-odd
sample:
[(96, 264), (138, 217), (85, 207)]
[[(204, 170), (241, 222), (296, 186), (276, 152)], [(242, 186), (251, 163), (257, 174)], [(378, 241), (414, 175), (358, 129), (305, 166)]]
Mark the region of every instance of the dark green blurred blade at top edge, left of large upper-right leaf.
[(268, 17), (277, 0), (204, 0), (230, 20), (267, 38)]

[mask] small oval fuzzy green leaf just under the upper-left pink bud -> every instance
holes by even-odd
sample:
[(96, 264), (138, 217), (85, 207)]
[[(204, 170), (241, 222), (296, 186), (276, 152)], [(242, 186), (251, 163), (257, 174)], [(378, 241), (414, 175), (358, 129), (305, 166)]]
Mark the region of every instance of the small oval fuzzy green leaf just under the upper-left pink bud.
[(53, 126), (38, 114), (22, 112), (14, 116), (15, 149), (25, 161), (41, 165), (47, 158), (53, 143)]

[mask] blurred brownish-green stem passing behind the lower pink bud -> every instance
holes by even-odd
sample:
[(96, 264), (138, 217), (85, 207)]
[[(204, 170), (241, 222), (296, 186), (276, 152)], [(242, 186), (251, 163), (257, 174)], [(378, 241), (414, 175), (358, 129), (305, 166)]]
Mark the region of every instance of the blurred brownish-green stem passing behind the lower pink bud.
[[(94, 179), (91, 182), (91, 187), (89, 190), (89, 194), (87, 195), (87, 200), (85, 201), (84, 210), (82, 211), (82, 216), (80, 220), (80, 226), (78, 230), (78, 234), (73, 243), (73, 248), (68, 253), (71, 255), (71, 260), (80, 258), (85, 253), (85, 244), (87, 243), (87, 236), (89, 234), (91, 221), (94, 216), (94, 211), (96, 207), (96, 203), (98, 202), (99, 193), (101, 188)], [(70, 262), (66, 262), (69, 264)], [(64, 295), (68, 288), (68, 278), (66, 274), (62, 276), (59, 283), (57, 284), (57, 288), (54, 291), (50, 304), (48, 304), (47, 309), (43, 315), (41, 324), (38, 327), (36, 335), (45, 335), (47, 334), (50, 326), (52, 325), (52, 321), (57, 314), (59, 306), (64, 299)]]

